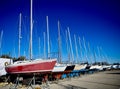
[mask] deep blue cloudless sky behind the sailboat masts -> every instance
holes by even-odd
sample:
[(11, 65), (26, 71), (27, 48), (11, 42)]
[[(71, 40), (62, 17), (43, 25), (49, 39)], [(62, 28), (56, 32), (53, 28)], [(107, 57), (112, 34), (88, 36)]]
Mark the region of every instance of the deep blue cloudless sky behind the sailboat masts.
[[(18, 54), (19, 13), (22, 13), (21, 55), (28, 55), (30, 0), (0, 1), (0, 32), (4, 31), (2, 53)], [(66, 54), (65, 30), (84, 36), (91, 49), (102, 46), (102, 53), (120, 61), (120, 1), (119, 0), (33, 0), (33, 56), (38, 56), (38, 37), (43, 55), (43, 32), (49, 16), (51, 51), (57, 51), (57, 21), (60, 20), (62, 51)], [(74, 41), (73, 41), (73, 48)], [(15, 50), (15, 51), (14, 51)], [(75, 53), (75, 50), (74, 50)]]

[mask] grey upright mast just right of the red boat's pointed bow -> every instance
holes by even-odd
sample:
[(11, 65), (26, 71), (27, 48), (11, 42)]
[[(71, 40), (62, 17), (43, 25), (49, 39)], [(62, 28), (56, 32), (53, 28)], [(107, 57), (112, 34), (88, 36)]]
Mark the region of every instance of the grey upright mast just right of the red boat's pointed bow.
[(58, 21), (58, 61), (61, 63), (61, 37), (60, 37), (60, 22)]

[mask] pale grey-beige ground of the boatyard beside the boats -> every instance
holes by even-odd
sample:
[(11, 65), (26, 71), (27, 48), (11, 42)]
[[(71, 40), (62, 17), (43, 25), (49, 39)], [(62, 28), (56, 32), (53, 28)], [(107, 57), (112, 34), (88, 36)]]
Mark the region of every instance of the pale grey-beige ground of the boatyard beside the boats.
[[(12, 85), (0, 83), (0, 89), (10, 89)], [(120, 89), (120, 70), (85, 74), (80, 77), (49, 82), (48, 85), (19, 86), (17, 89)]]

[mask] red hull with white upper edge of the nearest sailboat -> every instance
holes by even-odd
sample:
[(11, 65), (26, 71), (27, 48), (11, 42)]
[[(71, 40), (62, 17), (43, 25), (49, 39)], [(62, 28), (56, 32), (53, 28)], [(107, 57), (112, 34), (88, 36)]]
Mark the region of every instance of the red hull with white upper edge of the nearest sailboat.
[(7, 73), (45, 73), (53, 70), (56, 60), (37, 60), (6, 66)]

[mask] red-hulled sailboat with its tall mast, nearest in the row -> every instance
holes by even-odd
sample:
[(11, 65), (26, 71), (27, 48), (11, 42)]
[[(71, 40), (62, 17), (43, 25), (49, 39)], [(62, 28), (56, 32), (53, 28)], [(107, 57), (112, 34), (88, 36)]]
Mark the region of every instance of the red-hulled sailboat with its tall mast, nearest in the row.
[(30, 60), (17, 61), (14, 64), (7, 65), (5, 67), (9, 74), (21, 74), (21, 73), (46, 73), (51, 72), (55, 66), (56, 59), (49, 60), (32, 60), (32, 0), (30, 2)]

